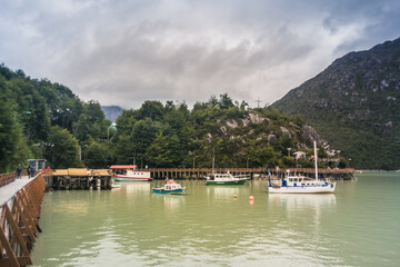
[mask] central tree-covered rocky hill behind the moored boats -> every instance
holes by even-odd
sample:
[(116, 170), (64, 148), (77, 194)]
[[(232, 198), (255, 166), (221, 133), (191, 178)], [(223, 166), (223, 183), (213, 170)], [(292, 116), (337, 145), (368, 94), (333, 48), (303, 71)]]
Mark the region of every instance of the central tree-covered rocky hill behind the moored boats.
[[(312, 154), (309, 148), (318, 134), (300, 118), (244, 107), (228, 95), (198, 102), (192, 110), (184, 103), (146, 101), (117, 120), (116, 162), (190, 168), (194, 160), (196, 167), (211, 167), (214, 155), (216, 167), (274, 168), (296, 167), (288, 148)], [(312, 167), (306, 159), (300, 164)]]

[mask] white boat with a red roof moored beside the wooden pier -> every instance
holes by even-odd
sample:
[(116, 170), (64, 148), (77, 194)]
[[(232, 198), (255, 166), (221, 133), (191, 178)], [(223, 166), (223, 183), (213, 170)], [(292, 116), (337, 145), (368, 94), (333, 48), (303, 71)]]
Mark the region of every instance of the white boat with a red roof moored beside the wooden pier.
[(152, 179), (150, 171), (138, 170), (136, 165), (112, 165), (110, 169), (114, 181), (147, 181)]

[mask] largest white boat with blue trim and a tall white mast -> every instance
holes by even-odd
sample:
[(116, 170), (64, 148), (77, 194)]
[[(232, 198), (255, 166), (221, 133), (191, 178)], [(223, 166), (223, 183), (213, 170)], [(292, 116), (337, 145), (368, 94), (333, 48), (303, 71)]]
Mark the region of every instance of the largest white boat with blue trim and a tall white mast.
[(334, 192), (336, 182), (318, 179), (318, 165), (317, 165), (317, 144), (314, 142), (314, 159), (316, 159), (316, 178), (307, 178), (303, 176), (291, 176), (288, 170), (287, 177), (280, 182), (271, 182), (269, 172), (268, 192), (272, 194), (324, 194)]

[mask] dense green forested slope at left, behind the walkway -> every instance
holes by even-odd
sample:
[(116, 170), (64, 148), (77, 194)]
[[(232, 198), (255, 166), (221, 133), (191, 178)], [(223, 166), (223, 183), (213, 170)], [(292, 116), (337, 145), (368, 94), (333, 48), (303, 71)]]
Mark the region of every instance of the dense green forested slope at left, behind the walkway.
[(81, 148), (106, 140), (106, 120), (97, 101), (83, 102), (69, 88), (32, 79), (0, 65), (0, 172), (28, 158), (52, 168), (81, 167)]

